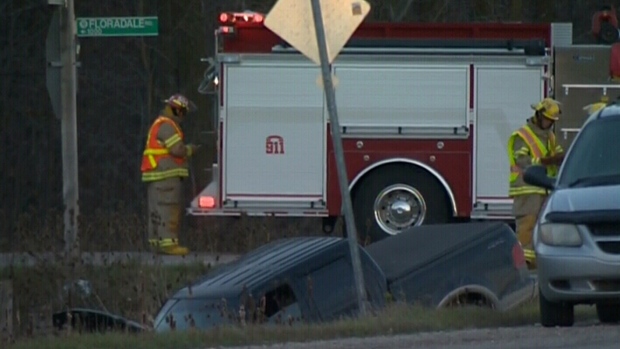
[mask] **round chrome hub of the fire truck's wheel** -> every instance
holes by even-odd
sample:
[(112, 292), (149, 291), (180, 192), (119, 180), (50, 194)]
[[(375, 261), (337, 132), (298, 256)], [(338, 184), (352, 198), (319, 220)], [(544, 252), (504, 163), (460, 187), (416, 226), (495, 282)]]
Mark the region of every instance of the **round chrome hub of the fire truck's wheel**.
[(424, 222), (426, 202), (422, 194), (407, 184), (394, 184), (383, 189), (374, 204), (377, 224), (390, 235)]

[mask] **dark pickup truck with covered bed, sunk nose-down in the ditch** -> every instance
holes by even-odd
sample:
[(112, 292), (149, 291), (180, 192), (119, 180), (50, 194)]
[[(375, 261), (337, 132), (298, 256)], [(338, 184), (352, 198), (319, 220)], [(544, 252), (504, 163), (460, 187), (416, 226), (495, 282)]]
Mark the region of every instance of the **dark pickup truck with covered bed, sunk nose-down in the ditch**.
[[(534, 296), (523, 250), (504, 223), (415, 227), (360, 248), (360, 258), (373, 309), (389, 296), (505, 311)], [(346, 239), (286, 238), (179, 290), (159, 310), (154, 330), (324, 322), (354, 315), (356, 300)]]

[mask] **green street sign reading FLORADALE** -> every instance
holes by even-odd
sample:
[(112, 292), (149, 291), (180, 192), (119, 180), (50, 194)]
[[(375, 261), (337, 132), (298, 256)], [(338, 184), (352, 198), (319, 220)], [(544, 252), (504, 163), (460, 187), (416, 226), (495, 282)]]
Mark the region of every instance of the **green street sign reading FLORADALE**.
[(76, 18), (77, 35), (93, 36), (157, 36), (157, 17), (83, 17)]

